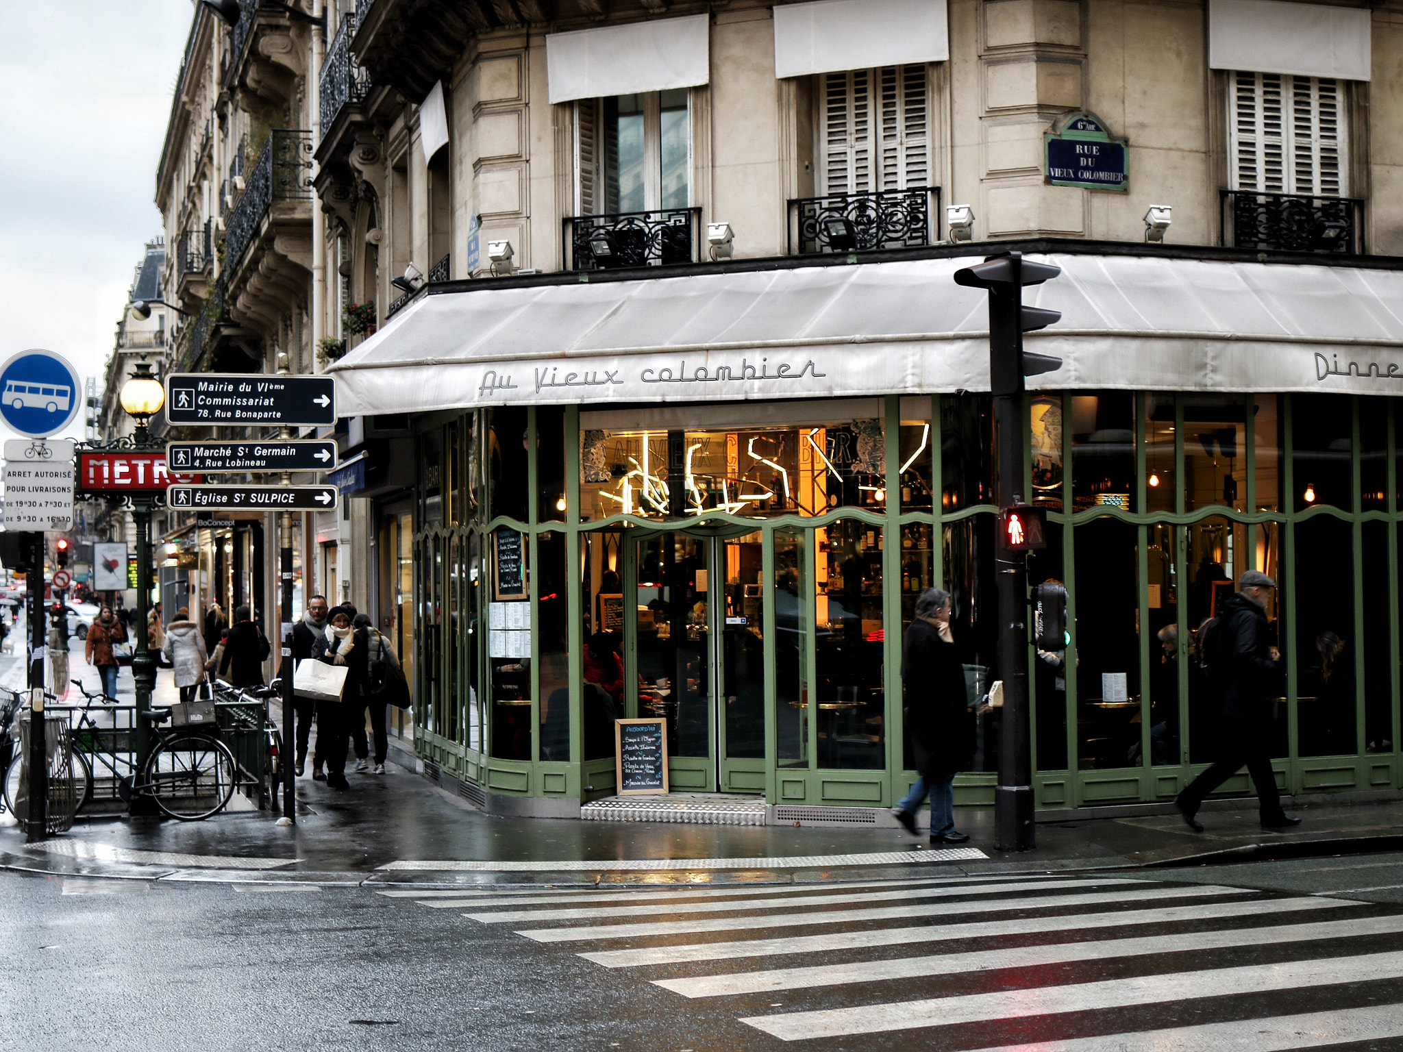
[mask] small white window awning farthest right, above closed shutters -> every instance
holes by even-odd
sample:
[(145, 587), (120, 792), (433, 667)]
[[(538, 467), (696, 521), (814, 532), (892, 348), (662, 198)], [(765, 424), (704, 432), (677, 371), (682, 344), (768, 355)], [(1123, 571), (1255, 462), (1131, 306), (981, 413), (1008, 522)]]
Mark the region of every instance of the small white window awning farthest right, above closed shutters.
[(1369, 80), (1368, 8), (1209, 0), (1208, 66)]

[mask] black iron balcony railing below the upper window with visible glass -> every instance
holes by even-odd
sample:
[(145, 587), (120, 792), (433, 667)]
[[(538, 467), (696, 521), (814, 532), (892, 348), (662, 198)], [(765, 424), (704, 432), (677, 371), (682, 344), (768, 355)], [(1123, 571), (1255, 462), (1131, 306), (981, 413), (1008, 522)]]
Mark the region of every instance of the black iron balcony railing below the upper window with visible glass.
[(620, 212), (565, 219), (565, 269), (671, 267), (700, 258), (702, 209)]

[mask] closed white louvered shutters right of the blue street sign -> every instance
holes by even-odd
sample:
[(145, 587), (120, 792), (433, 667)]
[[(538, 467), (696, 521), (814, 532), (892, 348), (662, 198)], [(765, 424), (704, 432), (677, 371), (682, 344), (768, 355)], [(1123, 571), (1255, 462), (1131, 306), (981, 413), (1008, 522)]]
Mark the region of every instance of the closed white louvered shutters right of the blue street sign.
[(1343, 102), (1337, 80), (1233, 73), (1232, 189), (1319, 196), (1348, 192)]

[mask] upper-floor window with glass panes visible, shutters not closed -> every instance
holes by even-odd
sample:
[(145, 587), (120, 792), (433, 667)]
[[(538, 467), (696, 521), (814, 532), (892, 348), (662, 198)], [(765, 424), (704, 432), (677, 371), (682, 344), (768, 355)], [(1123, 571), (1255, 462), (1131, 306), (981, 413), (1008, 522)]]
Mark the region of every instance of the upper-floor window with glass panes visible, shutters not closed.
[(575, 213), (616, 215), (692, 203), (687, 88), (575, 104)]

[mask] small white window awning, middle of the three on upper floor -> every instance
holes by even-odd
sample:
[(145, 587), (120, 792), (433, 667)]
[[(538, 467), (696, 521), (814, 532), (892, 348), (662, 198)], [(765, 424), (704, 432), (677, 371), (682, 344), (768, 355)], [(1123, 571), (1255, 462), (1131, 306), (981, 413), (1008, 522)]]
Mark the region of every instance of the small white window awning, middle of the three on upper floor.
[(774, 6), (776, 77), (948, 58), (946, 0), (817, 0)]

